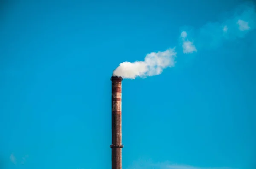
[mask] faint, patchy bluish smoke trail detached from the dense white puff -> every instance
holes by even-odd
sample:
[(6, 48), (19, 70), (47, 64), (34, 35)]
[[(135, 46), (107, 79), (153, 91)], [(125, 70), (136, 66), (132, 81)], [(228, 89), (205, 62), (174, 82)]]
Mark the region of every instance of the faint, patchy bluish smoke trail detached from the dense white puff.
[[(242, 38), (255, 28), (255, 6), (253, 3), (244, 3), (238, 6), (233, 12), (233, 17), (227, 20), (215, 23), (209, 22), (194, 30), (195, 34), (189, 34), (188, 32), (191, 30), (183, 30), (180, 34), (183, 53), (190, 54), (202, 48), (217, 48), (225, 40)], [(191, 41), (192, 39), (193, 41)]]

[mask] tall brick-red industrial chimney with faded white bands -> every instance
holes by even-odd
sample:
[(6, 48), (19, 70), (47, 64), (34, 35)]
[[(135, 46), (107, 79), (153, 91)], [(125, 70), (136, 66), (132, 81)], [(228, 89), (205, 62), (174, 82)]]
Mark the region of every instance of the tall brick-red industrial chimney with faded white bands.
[(112, 169), (122, 169), (122, 77), (112, 76)]

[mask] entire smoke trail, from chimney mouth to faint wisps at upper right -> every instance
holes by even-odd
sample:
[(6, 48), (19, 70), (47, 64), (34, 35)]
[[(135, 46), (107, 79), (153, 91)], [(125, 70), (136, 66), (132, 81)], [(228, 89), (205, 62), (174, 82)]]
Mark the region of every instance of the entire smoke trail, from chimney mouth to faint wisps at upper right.
[[(182, 29), (181, 47), (184, 54), (191, 54), (202, 49), (217, 48), (225, 40), (242, 38), (256, 28), (256, 12), (253, 3), (244, 3), (233, 11), (232, 17), (215, 23), (207, 23), (197, 29)], [(113, 76), (135, 79), (159, 75), (163, 69), (175, 65), (175, 48), (152, 52), (144, 61), (122, 62), (113, 71)]]

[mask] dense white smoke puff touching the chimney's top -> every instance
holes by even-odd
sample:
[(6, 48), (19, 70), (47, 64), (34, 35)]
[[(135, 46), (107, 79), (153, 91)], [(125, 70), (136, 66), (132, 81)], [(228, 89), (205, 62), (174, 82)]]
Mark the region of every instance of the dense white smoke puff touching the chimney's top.
[(151, 52), (144, 61), (122, 62), (113, 71), (113, 76), (122, 76), (126, 79), (159, 75), (163, 69), (175, 65), (175, 48), (166, 51)]

